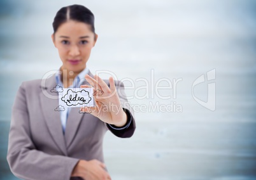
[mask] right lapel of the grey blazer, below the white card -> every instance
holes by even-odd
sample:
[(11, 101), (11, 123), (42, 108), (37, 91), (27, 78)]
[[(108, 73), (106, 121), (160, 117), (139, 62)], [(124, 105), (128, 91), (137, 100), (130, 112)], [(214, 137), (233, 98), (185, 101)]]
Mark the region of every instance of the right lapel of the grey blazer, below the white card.
[[(94, 77), (90, 71), (88, 74), (91, 77)], [(86, 80), (84, 80), (82, 84), (90, 85), (89, 82), (87, 82)], [(85, 113), (79, 113), (79, 111), (80, 111), (80, 108), (71, 108), (68, 115), (66, 130), (65, 130), (67, 148), (71, 145), (73, 139), (75, 138), (76, 132), (78, 131), (78, 127), (81, 123), (83, 115), (85, 115)]]

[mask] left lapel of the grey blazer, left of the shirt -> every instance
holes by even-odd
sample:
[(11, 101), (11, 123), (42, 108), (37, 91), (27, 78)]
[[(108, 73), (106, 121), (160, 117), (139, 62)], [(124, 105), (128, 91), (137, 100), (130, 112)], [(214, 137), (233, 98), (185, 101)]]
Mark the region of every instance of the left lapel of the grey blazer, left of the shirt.
[(59, 106), (59, 94), (52, 93), (51, 90), (56, 86), (55, 77), (52, 77), (45, 80), (42, 80), (41, 83), (41, 94), (40, 102), (41, 102), (41, 110), (45, 117), (46, 125), (52, 135), (53, 140), (59, 146), (60, 151), (64, 153), (64, 155), (68, 155), (66, 149), (66, 142), (64, 139), (64, 135), (62, 132), (62, 125), (60, 122), (60, 112), (55, 111), (55, 108)]

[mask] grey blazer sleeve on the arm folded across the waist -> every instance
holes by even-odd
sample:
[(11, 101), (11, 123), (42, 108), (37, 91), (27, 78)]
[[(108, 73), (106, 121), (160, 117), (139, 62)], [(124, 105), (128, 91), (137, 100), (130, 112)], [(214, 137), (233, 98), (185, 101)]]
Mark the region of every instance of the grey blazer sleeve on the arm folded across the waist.
[(7, 152), (11, 172), (22, 179), (70, 179), (79, 159), (49, 155), (34, 146), (23, 84), (18, 89), (11, 113)]

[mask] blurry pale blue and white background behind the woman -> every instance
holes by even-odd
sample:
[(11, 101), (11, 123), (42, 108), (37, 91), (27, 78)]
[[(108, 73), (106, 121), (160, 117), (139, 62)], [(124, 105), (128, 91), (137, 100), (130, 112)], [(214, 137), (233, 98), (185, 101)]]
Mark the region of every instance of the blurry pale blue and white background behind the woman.
[[(107, 132), (104, 157), (113, 179), (256, 179), (256, 1), (249, 0), (1, 0), (0, 179), (17, 179), (6, 162), (17, 89), (60, 67), (50, 35), (55, 13), (69, 4), (83, 4), (96, 17), (92, 73), (110, 70), (136, 87), (145, 86), (136, 79), (150, 80), (152, 69), (155, 81), (183, 79), (176, 99), (129, 100), (175, 101), (183, 112), (136, 112), (130, 139)], [(194, 80), (213, 68), (214, 112), (192, 98)], [(206, 93), (207, 83), (195, 87), (198, 98), (206, 101)]]

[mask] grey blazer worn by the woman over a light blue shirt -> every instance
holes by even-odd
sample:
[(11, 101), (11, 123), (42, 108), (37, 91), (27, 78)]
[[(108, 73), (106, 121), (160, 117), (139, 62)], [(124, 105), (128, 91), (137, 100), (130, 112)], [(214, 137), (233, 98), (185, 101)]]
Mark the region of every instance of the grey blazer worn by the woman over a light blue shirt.
[[(105, 82), (109, 85), (108, 80)], [(63, 134), (60, 112), (55, 111), (59, 105), (58, 93), (50, 92), (56, 86), (54, 75), (43, 83), (41, 79), (22, 82), (11, 113), (7, 153), (11, 172), (22, 179), (63, 180), (70, 179), (80, 159), (104, 162), (105, 132), (110, 130), (115, 136), (129, 138), (136, 128), (133, 110), (125, 98), (124, 84), (119, 81), (115, 84), (127, 113), (127, 123), (131, 119), (129, 127), (116, 130), (89, 113), (79, 113), (80, 108), (71, 108)]]

